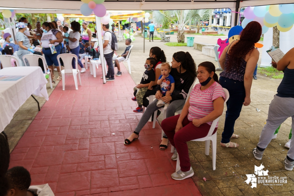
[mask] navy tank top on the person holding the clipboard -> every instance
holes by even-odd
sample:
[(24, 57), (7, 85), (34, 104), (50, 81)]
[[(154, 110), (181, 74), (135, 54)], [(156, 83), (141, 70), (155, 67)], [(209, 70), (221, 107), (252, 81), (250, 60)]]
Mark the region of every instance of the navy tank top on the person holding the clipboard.
[(278, 97), (292, 97), (294, 98), (294, 69), (284, 70), (284, 77), (280, 85), (278, 86)]

